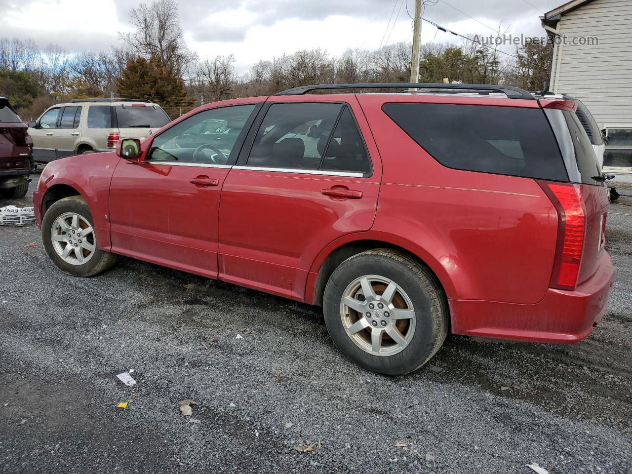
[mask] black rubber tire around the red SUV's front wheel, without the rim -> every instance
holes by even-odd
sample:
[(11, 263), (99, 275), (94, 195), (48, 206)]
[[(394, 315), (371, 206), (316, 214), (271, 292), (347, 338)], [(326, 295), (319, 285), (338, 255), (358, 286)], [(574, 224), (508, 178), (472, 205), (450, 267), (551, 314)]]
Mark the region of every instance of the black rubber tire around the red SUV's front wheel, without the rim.
[[(55, 251), (52, 244), (51, 229), (56, 219), (66, 212), (73, 212), (87, 220), (94, 229), (94, 221), (90, 208), (80, 196), (71, 196), (58, 200), (46, 211), (42, 221), (42, 242), (44, 249), (52, 262), (63, 272), (78, 277), (90, 277), (106, 271), (116, 262), (116, 255), (100, 250), (98, 243), (94, 241), (95, 250), (90, 259), (82, 265), (73, 265), (65, 262)], [(96, 235), (94, 236), (96, 239)]]

